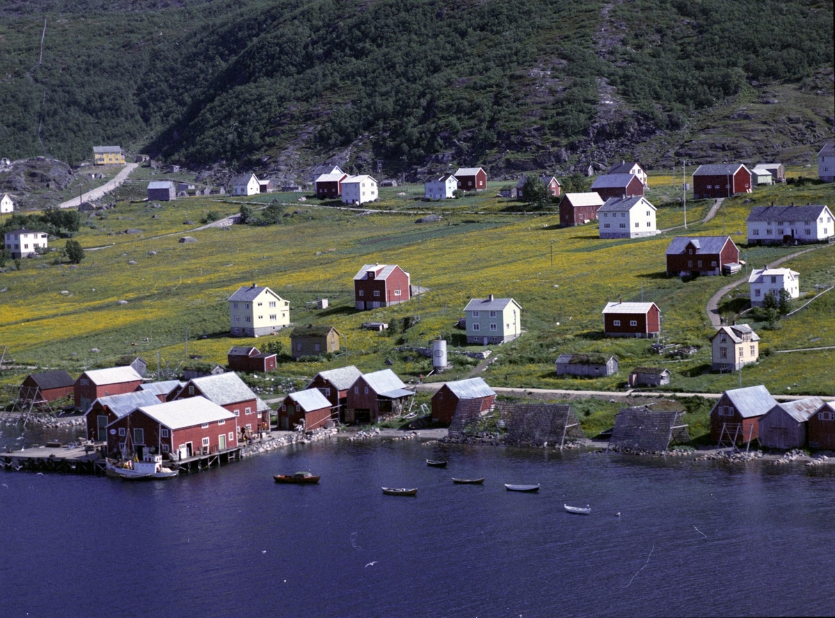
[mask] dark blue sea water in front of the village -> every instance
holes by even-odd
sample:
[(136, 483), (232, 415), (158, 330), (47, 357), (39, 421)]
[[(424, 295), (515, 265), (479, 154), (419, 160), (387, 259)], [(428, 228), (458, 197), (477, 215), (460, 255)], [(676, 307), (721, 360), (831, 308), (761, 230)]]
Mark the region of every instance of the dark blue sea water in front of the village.
[[(272, 480), (296, 470), (320, 484)], [(0, 615), (835, 615), (825, 467), (331, 440), (170, 481), (0, 483)]]

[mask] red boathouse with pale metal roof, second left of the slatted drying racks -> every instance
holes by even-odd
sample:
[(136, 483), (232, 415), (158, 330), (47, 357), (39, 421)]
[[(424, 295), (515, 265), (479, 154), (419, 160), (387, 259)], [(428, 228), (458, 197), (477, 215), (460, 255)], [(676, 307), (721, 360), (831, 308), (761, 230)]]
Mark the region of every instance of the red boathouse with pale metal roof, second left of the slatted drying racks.
[(359, 425), (376, 423), (383, 416), (402, 411), (412, 396), (414, 393), (391, 369), (361, 375), (348, 390), (345, 421)]

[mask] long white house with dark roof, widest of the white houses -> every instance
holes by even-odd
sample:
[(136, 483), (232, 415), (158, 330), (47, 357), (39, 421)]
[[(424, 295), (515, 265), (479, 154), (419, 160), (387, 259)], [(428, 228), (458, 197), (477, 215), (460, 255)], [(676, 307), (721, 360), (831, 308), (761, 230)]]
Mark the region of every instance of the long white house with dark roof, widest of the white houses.
[(835, 237), (827, 206), (755, 206), (746, 219), (748, 244), (817, 243)]

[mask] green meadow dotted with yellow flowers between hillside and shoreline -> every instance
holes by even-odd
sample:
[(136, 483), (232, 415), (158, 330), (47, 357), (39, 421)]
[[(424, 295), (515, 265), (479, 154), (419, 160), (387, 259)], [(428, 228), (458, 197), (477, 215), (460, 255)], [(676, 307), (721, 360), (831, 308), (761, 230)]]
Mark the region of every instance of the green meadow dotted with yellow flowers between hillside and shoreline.
[[(668, 174), (650, 177), (650, 187), (650, 201), (657, 195), (670, 204), (665, 207), (670, 212), (661, 212), (659, 219), (664, 225), (676, 224), (683, 212), (672, 196), (681, 185), (677, 189)], [(343, 334), (342, 354), (335, 358), (282, 362), (278, 374), (291, 384), (301, 385), (317, 371), (346, 363), (364, 371), (381, 369), (386, 359), (405, 381), (414, 380), (428, 374), (430, 359), (394, 348), (426, 346), (439, 336), (448, 339), (453, 363), (443, 377), (458, 379), (476, 363), (453, 351), (481, 349), (464, 343), (463, 330), (456, 327), (458, 317), (469, 299), (495, 294), (513, 297), (522, 306), (524, 334), (513, 344), (493, 349), (498, 359), (482, 374), (488, 384), (620, 389), (632, 367), (647, 364), (671, 369), (670, 388), (676, 391), (721, 392), (739, 384), (736, 374), (708, 371), (707, 339), (713, 330), (705, 304), (731, 279), (667, 278), (664, 253), (674, 233), (601, 240), (596, 224), (559, 229), (555, 212), (507, 214), (509, 203), (494, 198), (492, 189), (450, 203), (424, 202), (422, 188), (416, 186), (383, 189), (372, 207), (384, 212), (374, 214), (315, 199), (301, 202), (298, 193), (255, 199), (182, 198), (160, 208), (121, 201), (116, 209), (85, 220), (76, 238), (88, 250), (77, 267), (60, 264), (58, 251), (24, 259), (20, 270), (7, 265), (0, 274), (0, 346), (7, 346), (7, 358), (18, 364), (66, 368), (71, 373), (108, 366), (124, 354), (141, 355), (154, 368), (159, 353), (160, 364), (175, 369), (195, 361), (225, 364), (232, 345), (277, 340), (289, 349), (289, 332), (269, 339), (228, 336), (226, 299), (240, 285), (256, 282), (290, 300), (294, 324), (332, 324)], [(122, 188), (119, 197), (136, 197), (125, 195), (135, 190), (135, 185)], [(759, 267), (797, 249), (746, 247), (745, 219), (751, 205), (832, 204), (833, 197), (831, 185), (758, 188), (726, 200), (715, 219), (692, 223), (686, 231), (730, 234), (749, 267)], [(210, 212), (234, 214), (241, 202), (258, 209), (275, 200), (286, 215), (279, 224), (195, 231)], [(701, 219), (709, 206), (688, 203), (688, 221)], [(443, 220), (415, 223), (416, 213), (429, 212), (442, 214)], [(139, 232), (125, 234), (126, 229)], [(183, 235), (198, 242), (180, 244)], [(51, 247), (61, 249), (63, 241), (52, 240)], [(412, 284), (428, 291), (407, 304), (358, 312), (353, 308), (352, 277), (362, 264), (374, 262), (400, 264), (412, 275)], [(835, 283), (835, 246), (816, 246), (784, 265), (801, 273), (802, 294), (811, 296), (815, 285)], [(745, 308), (746, 294), (747, 285), (736, 289), (723, 300), (722, 314), (745, 320), (737, 313)], [(306, 302), (320, 298), (329, 299), (328, 309), (306, 308)], [(655, 302), (663, 314), (665, 341), (696, 345), (699, 351), (686, 360), (669, 359), (652, 354), (645, 339), (605, 337), (600, 312), (607, 300), (618, 298)], [(835, 350), (779, 352), (835, 345), (832, 315), (835, 292), (780, 320), (776, 329), (754, 324), (766, 354), (743, 370), (742, 383), (765, 384), (775, 393), (787, 388), (835, 392), (835, 375), (823, 369), (832, 365)], [(405, 332), (360, 329), (369, 320), (399, 324), (404, 318), (413, 323)], [(615, 354), (620, 373), (601, 379), (557, 378), (554, 360), (564, 352)], [(26, 373), (7, 371), (3, 381), (16, 382)]]

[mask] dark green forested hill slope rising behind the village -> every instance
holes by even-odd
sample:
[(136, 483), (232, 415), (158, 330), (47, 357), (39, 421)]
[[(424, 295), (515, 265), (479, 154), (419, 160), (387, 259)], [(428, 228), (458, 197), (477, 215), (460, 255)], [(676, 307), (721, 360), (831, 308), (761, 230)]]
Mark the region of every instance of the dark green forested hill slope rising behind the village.
[(11, 158), (514, 173), (791, 158), (835, 115), (827, 0), (10, 0), (0, 46)]

